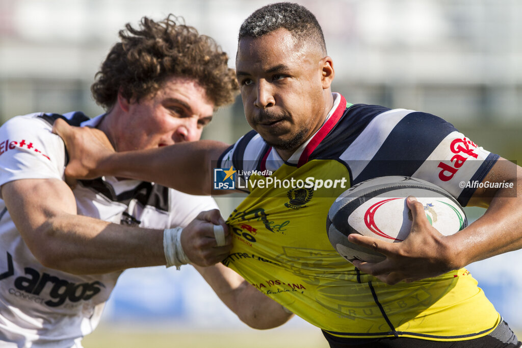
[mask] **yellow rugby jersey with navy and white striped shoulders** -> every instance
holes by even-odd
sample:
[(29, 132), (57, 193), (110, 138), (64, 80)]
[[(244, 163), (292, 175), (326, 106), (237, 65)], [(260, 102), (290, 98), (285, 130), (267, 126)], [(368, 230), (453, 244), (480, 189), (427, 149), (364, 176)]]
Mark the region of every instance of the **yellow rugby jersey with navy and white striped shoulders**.
[(236, 184), (249, 194), (228, 218), (233, 248), (223, 263), (331, 335), (481, 337), (501, 317), (466, 269), (387, 285), (337, 253), (326, 217), (351, 185), (389, 175), (428, 180), (466, 205), (473, 190), (460, 182), (481, 181), (497, 158), (434, 115), (351, 105), (335, 95), (321, 129), (288, 161), (255, 132), (224, 152), (219, 168), (236, 170)]

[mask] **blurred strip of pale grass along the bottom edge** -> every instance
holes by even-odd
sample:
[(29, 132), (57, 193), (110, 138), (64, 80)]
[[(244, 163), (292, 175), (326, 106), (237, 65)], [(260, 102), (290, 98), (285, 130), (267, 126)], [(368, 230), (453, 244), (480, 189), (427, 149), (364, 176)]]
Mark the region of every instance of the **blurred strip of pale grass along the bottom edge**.
[(84, 348), (328, 348), (319, 329), (144, 330), (100, 327), (83, 341)]

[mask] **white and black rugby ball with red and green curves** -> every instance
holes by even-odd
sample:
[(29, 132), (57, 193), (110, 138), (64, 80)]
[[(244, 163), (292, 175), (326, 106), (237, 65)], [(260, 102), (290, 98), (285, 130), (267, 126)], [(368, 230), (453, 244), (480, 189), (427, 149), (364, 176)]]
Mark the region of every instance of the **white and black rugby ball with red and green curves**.
[(358, 233), (387, 242), (401, 242), (410, 233), (412, 217), (406, 204), (414, 196), (424, 205), (430, 224), (445, 236), (468, 225), (460, 204), (444, 189), (421, 179), (388, 176), (360, 182), (331, 205), (326, 230), (331, 245), (348, 261), (379, 262), (384, 255), (348, 241)]

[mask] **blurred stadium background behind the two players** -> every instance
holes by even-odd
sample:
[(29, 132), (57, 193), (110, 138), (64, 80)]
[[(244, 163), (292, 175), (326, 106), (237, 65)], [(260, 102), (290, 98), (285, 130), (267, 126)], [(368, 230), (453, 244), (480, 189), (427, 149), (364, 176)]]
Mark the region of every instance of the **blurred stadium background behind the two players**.
[[(353, 103), (434, 113), (475, 143), (522, 160), (522, 2), (519, 0), (301, 0), (323, 26), (334, 90)], [(267, 1), (0, 0), (0, 122), (35, 111), (103, 112), (89, 87), (117, 31), (144, 16), (185, 18), (221, 44), (233, 67), (239, 26)], [(233, 142), (249, 129), (241, 100), (217, 112), (205, 138)], [(239, 198), (219, 198), (228, 216)], [(468, 209), (472, 220), (483, 210)], [(469, 266), (511, 326), (522, 329), (522, 253)], [(248, 329), (199, 275), (126, 271), (89, 347), (326, 346), (292, 319)]]

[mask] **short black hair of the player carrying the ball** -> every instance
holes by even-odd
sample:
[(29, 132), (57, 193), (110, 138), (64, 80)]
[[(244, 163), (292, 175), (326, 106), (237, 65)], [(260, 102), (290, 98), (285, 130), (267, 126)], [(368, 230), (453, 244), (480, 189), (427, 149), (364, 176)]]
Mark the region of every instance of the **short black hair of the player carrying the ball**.
[(276, 3), (255, 10), (239, 29), (239, 38), (258, 38), (284, 28), (298, 40), (313, 41), (326, 54), (323, 30), (315, 16), (304, 6), (295, 3)]

